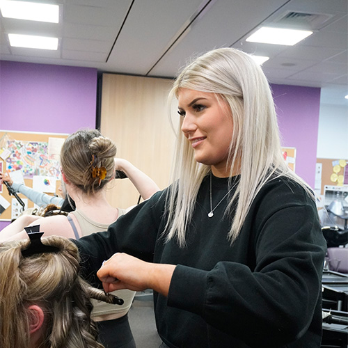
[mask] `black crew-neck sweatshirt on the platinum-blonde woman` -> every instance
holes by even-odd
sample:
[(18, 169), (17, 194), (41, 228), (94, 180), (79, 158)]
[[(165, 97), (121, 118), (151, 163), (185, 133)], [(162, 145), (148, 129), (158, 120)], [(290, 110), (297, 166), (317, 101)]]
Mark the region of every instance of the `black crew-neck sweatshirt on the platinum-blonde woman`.
[[(270, 180), (231, 246), (231, 221), (223, 214), (228, 200), (207, 216), (209, 184), (207, 176), (186, 247), (174, 239), (164, 243), (166, 191), (159, 192), (107, 232), (76, 242), (85, 278), (118, 251), (177, 264), (168, 297), (154, 293), (157, 329), (172, 348), (320, 347), (326, 242), (313, 200), (292, 180)], [(227, 185), (227, 179), (212, 177), (212, 207)]]

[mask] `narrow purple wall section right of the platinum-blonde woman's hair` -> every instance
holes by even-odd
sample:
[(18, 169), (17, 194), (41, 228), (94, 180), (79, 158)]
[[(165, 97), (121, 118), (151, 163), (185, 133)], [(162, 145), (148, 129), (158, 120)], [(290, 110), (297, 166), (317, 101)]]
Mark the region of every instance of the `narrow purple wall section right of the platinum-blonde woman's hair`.
[(320, 88), (272, 85), (282, 145), (296, 148), (295, 172), (315, 185)]

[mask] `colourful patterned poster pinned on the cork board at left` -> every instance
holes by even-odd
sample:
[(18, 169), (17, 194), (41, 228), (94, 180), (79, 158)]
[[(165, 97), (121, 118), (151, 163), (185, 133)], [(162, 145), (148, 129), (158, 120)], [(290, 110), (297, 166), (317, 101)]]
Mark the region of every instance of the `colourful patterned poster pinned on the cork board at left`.
[(59, 162), (49, 157), (47, 142), (10, 140), (7, 149), (10, 150), (10, 156), (6, 159), (8, 171), (20, 170), (26, 179), (32, 179), (33, 175), (59, 179)]

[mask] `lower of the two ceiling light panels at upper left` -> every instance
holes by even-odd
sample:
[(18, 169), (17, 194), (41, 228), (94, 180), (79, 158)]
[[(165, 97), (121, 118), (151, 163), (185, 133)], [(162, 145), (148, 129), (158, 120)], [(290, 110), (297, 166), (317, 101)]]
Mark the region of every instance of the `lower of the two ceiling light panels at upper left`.
[(8, 34), (10, 45), (13, 47), (58, 49), (58, 38), (47, 38), (46, 36)]

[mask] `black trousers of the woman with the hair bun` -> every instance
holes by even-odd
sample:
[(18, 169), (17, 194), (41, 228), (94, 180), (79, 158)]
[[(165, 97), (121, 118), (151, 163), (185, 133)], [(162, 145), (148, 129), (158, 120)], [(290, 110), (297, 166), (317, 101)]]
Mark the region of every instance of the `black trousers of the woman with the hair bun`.
[(128, 315), (118, 319), (96, 322), (99, 341), (105, 348), (136, 348), (128, 322)]

